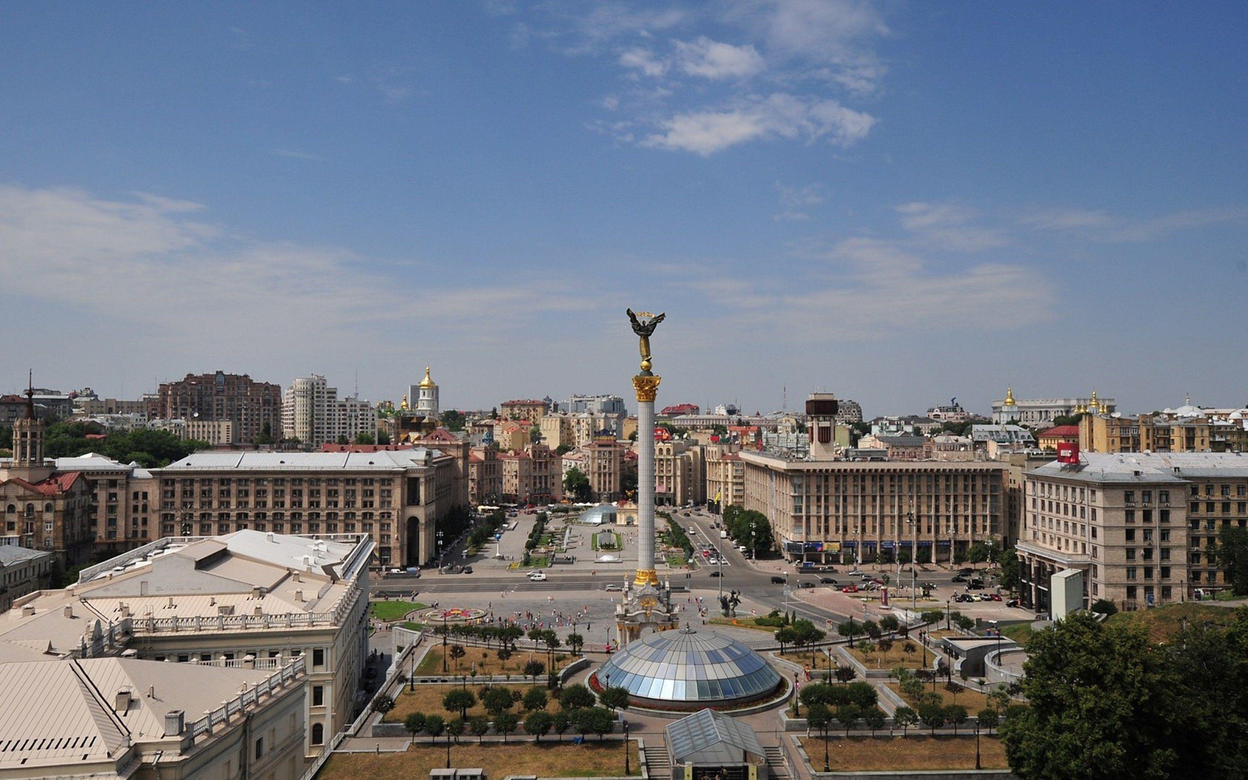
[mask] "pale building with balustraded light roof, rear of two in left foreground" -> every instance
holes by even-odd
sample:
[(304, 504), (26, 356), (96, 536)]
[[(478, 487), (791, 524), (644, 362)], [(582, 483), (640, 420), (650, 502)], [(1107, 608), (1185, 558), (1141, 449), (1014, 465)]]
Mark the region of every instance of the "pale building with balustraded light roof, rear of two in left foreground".
[[(314, 755), (357, 709), (372, 548), (363, 534), (158, 539), (84, 569), (64, 590), (17, 599), (0, 615), (0, 658), (122, 655), (270, 671), (301, 659), (297, 741)], [(188, 715), (197, 720), (222, 699)]]

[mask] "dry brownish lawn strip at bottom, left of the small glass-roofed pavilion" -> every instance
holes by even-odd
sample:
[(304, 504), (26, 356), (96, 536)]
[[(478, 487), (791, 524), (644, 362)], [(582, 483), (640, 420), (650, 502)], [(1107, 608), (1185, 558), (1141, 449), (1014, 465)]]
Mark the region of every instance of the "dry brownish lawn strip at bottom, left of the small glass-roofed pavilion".
[[(480, 766), (487, 778), (507, 775), (537, 775), (539, 778), (604, 778), (624, 774), (624, 750), (619, 741), (599, 743), (594, 738), (583, 745), (555, 741), (548, 736), (540, 744), (490, 743), (477, 745), (472, 738), (463, 738), (451, 746), (453, 766)], [(547, 741), (549, 740), (549, 741)], [(407, 753), (339, 753), (329, 756), (317, 773), (319, 780), (412, 780), (428, 778), (431, 769), (446, 766), (444, 740), (437, 745), (417, 744)], [(629, 763), (634, 775), (641, 774), (641, 761), (636, 755), (636, 741), (629, 743)], [(973, 750), (973, 748), (972, 748)]]

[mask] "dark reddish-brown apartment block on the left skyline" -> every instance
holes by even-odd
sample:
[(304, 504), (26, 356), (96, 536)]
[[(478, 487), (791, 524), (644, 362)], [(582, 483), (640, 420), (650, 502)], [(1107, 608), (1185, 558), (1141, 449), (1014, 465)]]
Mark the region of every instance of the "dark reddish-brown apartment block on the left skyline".
[(177, 382), (161, 383), (150, 401), (147, 417), (228, 419), (233, 421), (240, 442), (255, 442), (266, 431), (277, 439), (282, 434), (282, 388), (222, 371), (186, 374)]

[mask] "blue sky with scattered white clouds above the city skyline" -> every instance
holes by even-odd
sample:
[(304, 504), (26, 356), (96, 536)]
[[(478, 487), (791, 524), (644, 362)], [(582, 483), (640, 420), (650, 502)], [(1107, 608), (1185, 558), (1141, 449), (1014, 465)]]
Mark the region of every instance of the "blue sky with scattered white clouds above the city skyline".
[(9, 4), (0, 391), (1248, 402), (1243, 4)]

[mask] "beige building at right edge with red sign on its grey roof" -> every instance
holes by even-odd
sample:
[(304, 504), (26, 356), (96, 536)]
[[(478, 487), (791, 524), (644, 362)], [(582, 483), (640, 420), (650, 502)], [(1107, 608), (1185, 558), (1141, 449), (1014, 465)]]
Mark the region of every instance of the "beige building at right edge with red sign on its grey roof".
[(1119, 609), (1179, 602), (1227, 587), (1212, 550), (1248, 524), (1248, 456), (1081, 453), (1025, 474), (1017, 544), (1023, 603), (1050, 607), (1050, 578), (1085, 573), (1085, 599)]

